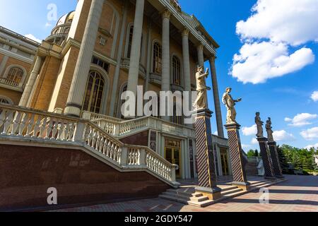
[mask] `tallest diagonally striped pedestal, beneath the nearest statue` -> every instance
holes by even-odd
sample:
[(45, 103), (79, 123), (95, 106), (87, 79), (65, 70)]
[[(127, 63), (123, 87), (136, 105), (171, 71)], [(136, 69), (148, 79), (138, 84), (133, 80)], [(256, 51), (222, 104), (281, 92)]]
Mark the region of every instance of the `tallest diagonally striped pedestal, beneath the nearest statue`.
[(216, 167), (214, 163), (211, 112), (209, 109), (200, 109), (193, 114), (196, 130), (196, 155), (198, 167), (199, 187), (196, 191), (208, 196), (211, 200), (221, 197), (221, 189), (216, 185)]

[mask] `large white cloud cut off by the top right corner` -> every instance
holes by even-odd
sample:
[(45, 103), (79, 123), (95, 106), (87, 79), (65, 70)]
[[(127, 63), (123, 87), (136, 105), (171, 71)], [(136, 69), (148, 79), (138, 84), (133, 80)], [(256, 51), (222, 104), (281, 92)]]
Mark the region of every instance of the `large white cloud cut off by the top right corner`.
[(237, 23), (242, 39), (266, 38), (293, 46), (318, 40), (317, 0), (259, 0), (252, 12)]

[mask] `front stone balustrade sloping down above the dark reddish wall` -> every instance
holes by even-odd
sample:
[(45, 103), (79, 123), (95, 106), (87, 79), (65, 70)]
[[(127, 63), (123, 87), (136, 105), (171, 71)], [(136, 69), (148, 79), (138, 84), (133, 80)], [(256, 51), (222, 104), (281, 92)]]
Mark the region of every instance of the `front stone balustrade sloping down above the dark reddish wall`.
[(0, 137), (77, 144), (122, 170), (146, 170), (177, 186), (175, 169), (148, 147), (126, 145), (86, 119), (0, 104)]

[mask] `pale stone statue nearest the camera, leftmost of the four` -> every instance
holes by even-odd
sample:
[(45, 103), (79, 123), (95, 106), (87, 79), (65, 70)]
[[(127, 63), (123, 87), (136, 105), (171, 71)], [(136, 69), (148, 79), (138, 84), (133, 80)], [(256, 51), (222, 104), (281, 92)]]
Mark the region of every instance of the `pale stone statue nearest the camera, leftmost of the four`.
[(208, 93), (207, 90), (211, 90), (211, 88), (206, 86), (206, 78), (208, 78), (208, 69), (206, 69), (206, 73), (204, 73), (204, 67), (200, 66), (198, 71), (196, 72), (196, 91), (197, 97), (194, 102), (194, 109), (206, 109), (208, 103)]

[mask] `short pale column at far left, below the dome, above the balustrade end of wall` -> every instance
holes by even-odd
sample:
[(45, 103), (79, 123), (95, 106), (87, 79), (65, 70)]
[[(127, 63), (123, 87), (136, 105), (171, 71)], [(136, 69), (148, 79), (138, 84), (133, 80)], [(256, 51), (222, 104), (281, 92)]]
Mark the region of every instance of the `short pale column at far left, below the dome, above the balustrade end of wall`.
[(30, 94), (32, 92), (35, 80), (37, 79), (37, 75), (39, 74), (40, 69), (41, 69), (41, 64), (42, 64), (42, 58), (37, 57), (35, 59), (35, 64), (33, 66), (33, 70), (30, 73), (28, 83), (25, 85), (23, 95), (20, 99), (20, 103), (19, 103), (20, 107), (26, 107), (26, 105), (28, 104), (28, 100), (29, 100)]

